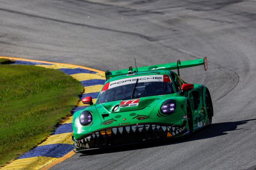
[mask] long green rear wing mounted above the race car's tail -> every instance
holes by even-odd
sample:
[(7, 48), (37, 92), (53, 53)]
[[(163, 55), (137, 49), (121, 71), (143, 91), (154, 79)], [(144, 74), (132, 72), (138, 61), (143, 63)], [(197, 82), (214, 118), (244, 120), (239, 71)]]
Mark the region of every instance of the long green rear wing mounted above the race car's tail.
[(133, 74), (134, 72), (142, 72), (142, 71), (154, 71), (154, 70), (178, 70), (178, 75), (180, 75), (179, 69), (180, 68), (188, 68), (188, 67), (194, 67), (194, 66), (200, 66), (204, 65), (204, 70), (206, 71), (208, 68), (207, 63), (207, 57), (204, 57), (203, 59), (197, 59), (197, 60), (189, 60), (189, 61), (183, 61), (181, 62), (178, 60), (175, 63), (166, 63), (166, 64), (160, 64), (160, 65), (152, 65), (152, 66), (145, 66), (145, 67), (138, 67), (133, 70), (133, 68), (130, 66), (129, 69), (123, 69), (123, 70), (114, 70), (114, 71), (106, 71), (105, 76), (106, 80), (108, 80), (111, 77), (116, 77), (119, 75), (126, 75), (126, 74)]

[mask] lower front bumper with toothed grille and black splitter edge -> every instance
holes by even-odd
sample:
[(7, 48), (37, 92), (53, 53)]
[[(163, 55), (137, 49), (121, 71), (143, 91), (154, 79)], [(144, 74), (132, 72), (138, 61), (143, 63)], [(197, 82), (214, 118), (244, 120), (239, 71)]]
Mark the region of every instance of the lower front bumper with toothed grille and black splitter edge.
[(72, 136), (72, 140), (74, 141), (73, 147), (75, 148), (75, 152), (79, 152), (85, 149), (178, 137), (189, 133), (186, 125), (187, 123), (184, 121), (181, 126), (149, 123), (101, 129), (87, 134), (79, 140), (76, 140)]

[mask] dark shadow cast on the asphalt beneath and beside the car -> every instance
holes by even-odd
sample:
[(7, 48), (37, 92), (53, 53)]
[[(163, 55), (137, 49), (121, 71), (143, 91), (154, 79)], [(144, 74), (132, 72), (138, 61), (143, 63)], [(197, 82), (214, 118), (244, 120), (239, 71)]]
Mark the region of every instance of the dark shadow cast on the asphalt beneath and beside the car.
[[(242, 120), (242, 121), (236, 121), (236, 122), (212, 123), (211, 126), (206, 126), (200, 129), (189, 138), (173, 138), (170, 140), (151, 141), (151, 142), (145, 142), (145, 143), (130, 144), (125, 146), (114, 146), (114, 147), (95, 149), (95, 150), (85, 150), (79, 156), (98, 155), (103, 153), (114, 153), (114, 152), (122, 152), (122, 151), (128, 151), (128, 150), (145, 149), (149, 147), (166, 146), (170, 144), (184, 143), (187, 141), (212, 138), (216, 136), (226, 135), (228, 134), (229, 131), (241, 130), (242, 128), (237, 129), (237, 127), (239, 125), (243, 125), (250, 121), (256, 121), (256, 119), (248, 119), (248, 120)], [(245, 131), (250, 129), (243, 129), (243, 130)]]

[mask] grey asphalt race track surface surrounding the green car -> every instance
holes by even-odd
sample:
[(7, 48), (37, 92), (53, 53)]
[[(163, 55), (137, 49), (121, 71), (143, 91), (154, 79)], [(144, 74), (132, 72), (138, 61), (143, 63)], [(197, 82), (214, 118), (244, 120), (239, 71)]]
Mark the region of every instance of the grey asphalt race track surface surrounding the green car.
[(53, 169), (246, 169), (256, 165), (256, 1), (0, 0), (0, 54), (99, 70), (208, 56), (212, 126), (187, 140), (77, 153)]

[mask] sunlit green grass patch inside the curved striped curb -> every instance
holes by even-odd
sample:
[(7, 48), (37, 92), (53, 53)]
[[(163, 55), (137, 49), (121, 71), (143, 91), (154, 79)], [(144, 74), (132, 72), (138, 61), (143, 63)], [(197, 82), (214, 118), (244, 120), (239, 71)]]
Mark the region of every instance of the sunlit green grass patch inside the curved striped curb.
[(0, 64), (0, 165), (54, 132), (82, 89), (79, 81), (58, 70)]

